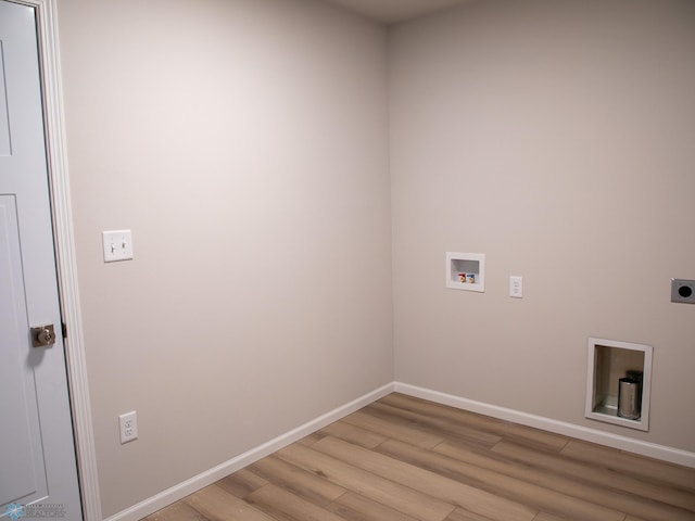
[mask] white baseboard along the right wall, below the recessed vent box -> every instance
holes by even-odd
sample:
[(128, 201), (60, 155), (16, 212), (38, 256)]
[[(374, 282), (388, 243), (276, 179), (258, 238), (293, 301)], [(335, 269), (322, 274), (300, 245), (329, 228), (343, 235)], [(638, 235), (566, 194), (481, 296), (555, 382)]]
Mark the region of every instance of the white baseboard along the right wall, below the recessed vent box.
[(553, 420), (542, 416), (530, 415), (520, 410), (507, 409), (496, 405), (462, 398), (460, 396), (440, 393), (438, 391), (418, 387), (407, 383), (394, 382), (393, 385), (396, 393), (428, 399), (437, 404), (448, 405), (451, 407), (456, 407), (457, 409), (491, 416), (501, 420), (513, 421), (521, 425), (543, 429), (544, 431), (554, 432), (556, 434), (576, 437), (585, 442), (597, 443), (607, 447), (648, 456), (650, 458), (669, 461), (671, 463), (695, 468), (695, 453), (690, 453), (687, 450), (667, 447), (666, 445), (657, 445), (655, 443), (642, 442), (640, 440), (597, 431), (595, 429), (576, 425), (565, 421)]

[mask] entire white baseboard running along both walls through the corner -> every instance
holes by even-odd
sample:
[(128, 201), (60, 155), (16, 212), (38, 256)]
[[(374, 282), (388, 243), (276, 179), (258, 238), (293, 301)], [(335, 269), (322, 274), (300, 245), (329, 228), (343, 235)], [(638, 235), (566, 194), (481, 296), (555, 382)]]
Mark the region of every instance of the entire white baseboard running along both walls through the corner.
[(589, 429), (586, 427), (576, 425), (573, 423), (567, 423), (564, 421), (553, 420), (551, 418), (544, 418), (542, 416), (530, 415), (519, 410), (507, 409), (498, 407), (496, 405), (484, 404), (482, 402), (476, 402), (460, 396), (454, 396), (452, 394), (440, 393), (429, 389), (418, 387), (416, 385), (409, 385), (402, 382), (388, 383), (370, 393), (361, 396), (359, 398), (338, 407), (312, 421), (304, 423), (303, 425), (293, 429), (274, 440), (270, 440), (263, 445), (258, 445), (251, 450), (248, 450), (236, 458), (225, 461), (217, 467), (198, 474), (190, 480), (187, 480), (178, 485), (175, 485), (160, 494), (152, 496), (143, 501), (134, 505), (126, 510), (123, 510), (115, 516), (112, 516), (104, 521), (138, 521), (157, 510), (178, 501), (184, 497), (211, 485), (218, 480), (222, 480), (226, 475), (229, 475), (244, 467), (262, 459), (302, 437), (316, 432), (317, 430), (338, 421), (341, 418), (354, 412), (376, 402), (379, 398), (392, 393), (397, 392), (414, 396), (417, 398), (427, 399), (437, 404), (448, 405), (456, 407), (457, 409), (469, 410), (471, 412), (478, 412), (480, 415), (498, 418), (501, 420), (513, 421), (522, 425), (533, 427), (542, 429), (548, 432), (555, 432), (578, 440), (586, 442), (597, 443), (607, 447), (618, 448), (630, 453), (640, 454), (642, 456), (648, 456), (652, 458), (669, 461), (672, 463), (683, 465), (685, 467), (695, 468), (695, 453), (688, 453), (686, 450), (680, 450), (665, 445), (657, 445), (654, 443), (641, 442), (626, 436), (611, 434), (595, 429)]

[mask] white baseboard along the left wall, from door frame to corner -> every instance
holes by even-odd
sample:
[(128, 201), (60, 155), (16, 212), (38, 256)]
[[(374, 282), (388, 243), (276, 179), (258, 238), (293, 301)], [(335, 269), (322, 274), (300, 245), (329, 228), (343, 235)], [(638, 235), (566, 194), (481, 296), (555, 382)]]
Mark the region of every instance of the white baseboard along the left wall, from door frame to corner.
[(358, 410), (372, 402), (376, 402), (383, 396), (392, 393), (394, 390), (393, 383), (388, 383), (376, 391), (365, 394), (353, 402), (350, 402), (346, 405), (338, 407), (318, 418), (311, 420), (303, 425), (298, 427), (285, 434), (279, 435), (270, 440), (269, 442), (264, 443), (263, 445), (258, 445), (245, 453), (237, 456), (236, 458), (231, 458), (228, 461), (225, 461), (216, 467), (213, 467), (205, 472), (202, 472), (198, 475), (194, 475), (190, 480), (187, 480), (178, 485), (175, 485), (166, 491), (156, 494), (148, 499), (144, 499), (137, 505), (134, 505), (130, 508), (122, 510), (121, 512), (108, 518), (105, 521), (138, 521), (151, 513), (156, 512), (157, 510), (170, 505), (172, 503), (178, 501), (184, 497), (192, 494), (195, 491), (203, 488), (204, 486), (211, 485), (216, 481), (222, 480), (223, 478), (243, 469), (244, 467), (257, 461), (294, 442), (301, 440), (313, 432), (323, 429), (324, 427), (340, 420), (341, 418)]

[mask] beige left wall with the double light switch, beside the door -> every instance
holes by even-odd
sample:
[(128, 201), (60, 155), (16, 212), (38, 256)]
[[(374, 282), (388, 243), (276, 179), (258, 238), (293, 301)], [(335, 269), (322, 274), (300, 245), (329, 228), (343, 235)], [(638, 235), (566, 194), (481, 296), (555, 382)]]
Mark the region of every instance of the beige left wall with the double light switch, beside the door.
[(387, 41), (299, 0), (59, 8), (108, 517), (393, 380)]

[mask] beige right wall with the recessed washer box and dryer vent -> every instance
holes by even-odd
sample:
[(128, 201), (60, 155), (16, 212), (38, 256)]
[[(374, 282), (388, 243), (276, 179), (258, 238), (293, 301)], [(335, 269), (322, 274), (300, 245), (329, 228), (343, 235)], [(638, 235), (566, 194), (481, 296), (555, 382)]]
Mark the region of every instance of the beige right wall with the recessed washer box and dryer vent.
[[(695, 2), (480, 1), (390, 36), (396, 379), (695, 450), (695, 306), (669, 302)], [(447, 251), (486, 254), (485, 293), (444, 288)], [(654, 346), (649, 433), (583, 418), (589, 336)]]

